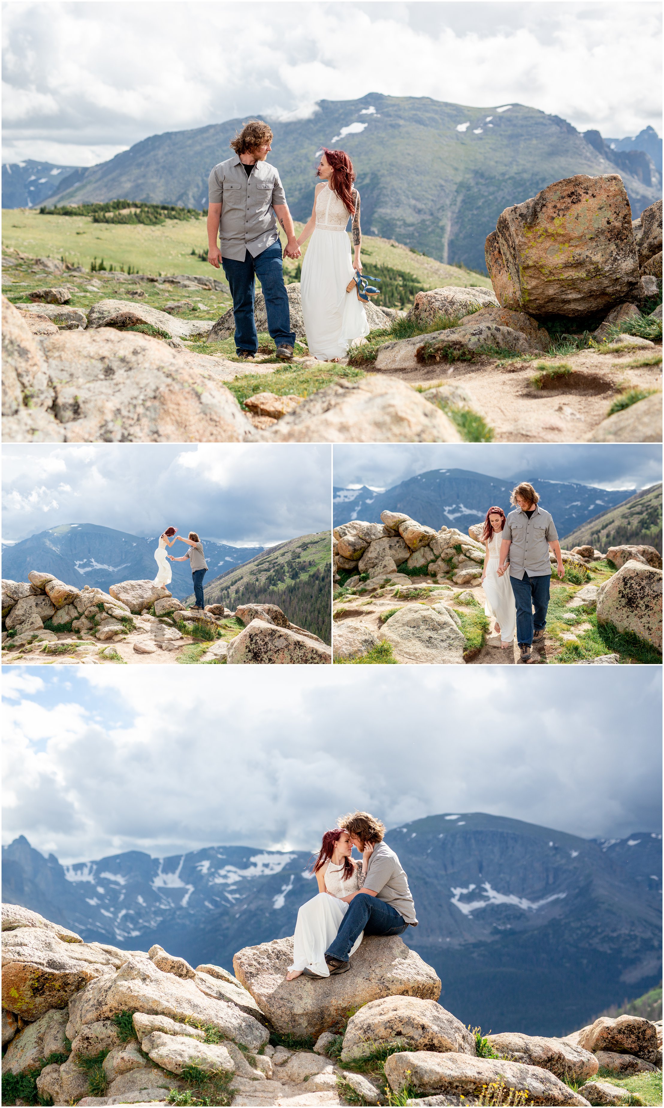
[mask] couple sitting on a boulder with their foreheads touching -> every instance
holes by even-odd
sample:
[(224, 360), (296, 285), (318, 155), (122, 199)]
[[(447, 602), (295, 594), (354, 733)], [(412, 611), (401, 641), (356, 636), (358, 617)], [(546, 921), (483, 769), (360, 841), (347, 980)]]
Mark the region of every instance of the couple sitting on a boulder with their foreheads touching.
[[(401, 935), (416, 927), (415, 904), (385, 827), (369, 812), (342, 815), (325, 831), (313, 864), (319, 893), (298, 912), (287, 981), (346, 973), (364, 935)], [(362, 861), (351, 858), (355, 847)]]

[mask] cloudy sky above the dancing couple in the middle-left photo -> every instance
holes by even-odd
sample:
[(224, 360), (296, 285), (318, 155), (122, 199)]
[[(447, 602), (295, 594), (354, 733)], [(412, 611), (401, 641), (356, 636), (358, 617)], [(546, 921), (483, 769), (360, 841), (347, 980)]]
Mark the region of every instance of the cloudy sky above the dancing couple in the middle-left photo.
[(147, 537), (195, 520), (206, 538), (269, 546), (330, 526), (330, 453), (288, 443), (6, 445), (3, 540), (63, 523)]

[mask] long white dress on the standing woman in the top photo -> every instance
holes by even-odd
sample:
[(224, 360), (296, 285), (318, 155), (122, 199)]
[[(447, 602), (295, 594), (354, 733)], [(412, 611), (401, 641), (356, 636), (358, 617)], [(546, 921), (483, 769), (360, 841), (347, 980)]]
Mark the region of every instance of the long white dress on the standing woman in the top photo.
[(300, 278), (309, 353), (320, 361), (343, 358), (351, 343), (371, 330), (355, 289), (346, 293), (355, 273), (345, 233), (349, 218), (347, 208), (330, 185), (321, 188)]

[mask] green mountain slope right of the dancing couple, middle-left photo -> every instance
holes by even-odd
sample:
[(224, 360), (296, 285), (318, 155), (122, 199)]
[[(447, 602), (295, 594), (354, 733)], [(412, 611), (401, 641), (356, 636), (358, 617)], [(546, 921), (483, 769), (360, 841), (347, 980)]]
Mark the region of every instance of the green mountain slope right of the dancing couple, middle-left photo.
[[(210, 581), (206, 604), (276, 604), (298, 627), (331, 642), (331, 537), (329, 531), (280, 543), (238, 570)], [(194, 597), (188, 598), (194, 603)]]

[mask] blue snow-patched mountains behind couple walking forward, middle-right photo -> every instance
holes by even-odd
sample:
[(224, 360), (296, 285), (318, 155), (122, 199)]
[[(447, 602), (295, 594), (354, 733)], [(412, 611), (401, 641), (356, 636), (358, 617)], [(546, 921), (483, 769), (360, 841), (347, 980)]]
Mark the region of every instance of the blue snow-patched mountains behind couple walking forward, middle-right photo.
[(418, 523), (438, 530), (442, 524), (467, 531), (480, 523), (489, 507), (497, 505), (509, 512), (509, 495), (518, 481), (531, 481), (540, 494), (540, 504), (551, 512), (556, 530), (562, 538), (568, 532), (598, 514), (613, 507), (635, 489), (595, 489), (573, 481), (543, 481), (525, 476), (500, 480), (469, 470), (428, 470), (402, 481), (393, 489), (375, 491), (340, 489), (333, 492), (334, 526), (351, 520), (380, 523), (381, 512), (407, 512)]

